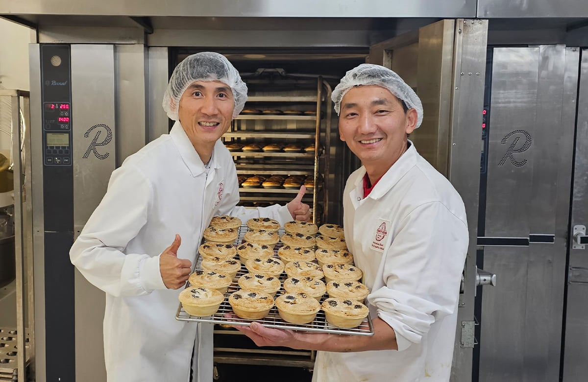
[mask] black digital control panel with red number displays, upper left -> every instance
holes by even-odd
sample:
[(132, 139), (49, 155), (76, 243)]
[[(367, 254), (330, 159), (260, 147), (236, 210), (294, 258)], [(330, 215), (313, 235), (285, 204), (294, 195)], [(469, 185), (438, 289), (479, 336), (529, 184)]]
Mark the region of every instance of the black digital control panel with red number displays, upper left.
[(42, 46), (42, 123), (45, 166), (72, 164), (71, 70), (68, 46)]

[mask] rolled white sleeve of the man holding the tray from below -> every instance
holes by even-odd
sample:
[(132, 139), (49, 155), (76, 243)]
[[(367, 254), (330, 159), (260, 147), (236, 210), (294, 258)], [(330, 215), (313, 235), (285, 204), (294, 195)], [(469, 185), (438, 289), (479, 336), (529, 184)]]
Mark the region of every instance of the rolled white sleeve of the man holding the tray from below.
[(384, 254), (385, 286), (368, 296), (395, 330), (398, 350), (420, 343), (436, 319), (455, 311), (468, 239), (466, 224), (440, 202), (417, 207), (399, 223)]

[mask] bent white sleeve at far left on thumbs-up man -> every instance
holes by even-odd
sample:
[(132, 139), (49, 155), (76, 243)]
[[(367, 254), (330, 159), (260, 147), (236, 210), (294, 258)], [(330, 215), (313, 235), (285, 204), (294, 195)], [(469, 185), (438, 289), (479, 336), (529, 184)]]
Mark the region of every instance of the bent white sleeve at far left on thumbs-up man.
[(111, 176), (102, 202), (69, 251), (72, 264), (94, 286), (113, 296), (141, 296), (166, 289), (159, 254), (125, 253), (145, 225), (153, 204), (149, 180), (132, 165)]

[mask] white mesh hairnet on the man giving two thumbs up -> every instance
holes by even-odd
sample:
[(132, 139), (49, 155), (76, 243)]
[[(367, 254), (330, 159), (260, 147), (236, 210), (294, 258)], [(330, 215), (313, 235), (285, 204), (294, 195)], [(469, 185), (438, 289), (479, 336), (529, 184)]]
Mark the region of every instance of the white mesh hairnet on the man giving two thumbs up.
[(186, 57), (173, 69), (168, 88), (163, 94), (163, 110), (172, 120), (178, 120), (178, 106), (183, 92), (195, 81), (220, 81), (229, 86), (235, 99), (233, 118), (239, 115), (247, 100), (247, 85), (235, 66), (225, 56), (201, 52)]

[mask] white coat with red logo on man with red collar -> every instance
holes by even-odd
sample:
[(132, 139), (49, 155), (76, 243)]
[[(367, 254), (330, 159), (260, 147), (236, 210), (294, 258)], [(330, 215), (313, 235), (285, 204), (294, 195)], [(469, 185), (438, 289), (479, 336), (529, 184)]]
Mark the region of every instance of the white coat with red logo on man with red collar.
[(468, 243), (462, 199), (412, 143), (364, 198), (365, 173), (345, 186), (345, 239), (370, 316), (394, 329), (398, 350), (319, 351), (313, 381), (449, 381)]

